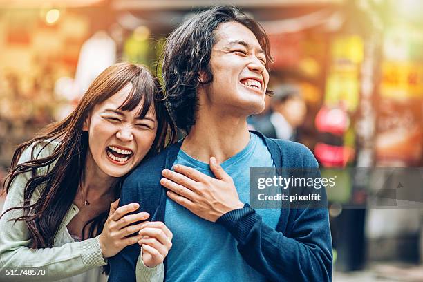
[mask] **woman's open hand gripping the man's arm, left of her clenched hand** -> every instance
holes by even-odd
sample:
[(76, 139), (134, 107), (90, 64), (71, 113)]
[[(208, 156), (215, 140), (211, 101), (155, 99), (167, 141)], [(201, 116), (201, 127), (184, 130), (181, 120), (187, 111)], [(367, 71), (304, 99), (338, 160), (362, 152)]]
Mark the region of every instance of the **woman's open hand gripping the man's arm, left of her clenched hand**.
[[(115, 256), (124, 247), (140, 241), (142, 235), (138, 232), (144, 223), (131, 224), (146, 220), (150, 216), (147, 212), (129, 214), (138, 210), (140, 207), (138, 203), (131, 203), (122, 207), (118, 207), (118, 205), (119, 199), (111, 203), (109, 216), (100, 234), (100, 247), (105, 259)], [(135, 235), (129, 236), (134, 233)]]

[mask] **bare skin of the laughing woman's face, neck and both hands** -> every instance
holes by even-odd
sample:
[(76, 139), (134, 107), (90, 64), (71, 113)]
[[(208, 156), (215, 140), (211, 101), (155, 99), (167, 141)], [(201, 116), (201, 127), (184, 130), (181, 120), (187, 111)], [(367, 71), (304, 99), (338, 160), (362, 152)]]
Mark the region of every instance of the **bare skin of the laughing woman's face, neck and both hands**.
[[(89, 150), (86, 159), (86, 177), (81, 191), (87, 192), (84, 196), (79, 193), (75, 198), (75, 202), (79, 203), (80, 212), (68, 225), (71, 234), (77, 234), (82, 228), (79, 225), (96, 213), (99, 214), (96, 209), (104, 210), (102, 207), (104, 203), (109, 205), (108, 187), (139, 164), (153, 144), (157, 131), (153, 109), (150, 109), (144, 118), (138, 118), (141, 104), (132, 111), (118, 110), (131, 91), (131, 87), (129, 84), (109, 99), (97, 104), (84, 122), (82, 130), (88, 131)], [(130, 150), (133, 155), (124, 163), (113, 162), (107, 156), (108, 146)], [(91, 205), (88, 207), (82, 204), (85, 198), (90, 199)], [(138, 203), (122, 207), (118, 205), (119, 200), (111, 203), (109, 216), (100, 234), (100, 246), (104, 258), (118, 254), (127, 245), (139, 243), (143, 247), (144, 265), (155, 267), (162, 263), (171, 247), (172, 234), (169, 229), (163, 223), (138, 223), (149, 218), (149, 214), (145, 212), (128, 215), (138, 210)], [(138, 224), (131, 225), (131, 223)], [(136, 234), (138, 232), (140, 233)], [(134, 233), (136, 235), (130, 236)]]

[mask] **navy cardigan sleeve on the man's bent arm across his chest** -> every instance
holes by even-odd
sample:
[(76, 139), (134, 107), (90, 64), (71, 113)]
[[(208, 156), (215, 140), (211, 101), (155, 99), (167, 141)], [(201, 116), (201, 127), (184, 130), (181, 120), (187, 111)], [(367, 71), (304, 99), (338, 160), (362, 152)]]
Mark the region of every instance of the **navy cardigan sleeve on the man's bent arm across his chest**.
[[(311, 152), (308, 156), (311, 155)], [(304, 167), (317, 167), (312, 155)], [(315, 177), (320, 178), (316, 168)], [(326, 201), (326, 192), (321, 189)], [(221, 216), (247, 263), (271, 281), (331, 281), (332, 239), (326, 208), (290, 209), (287, 234), (269, 227), (250, 205)]]

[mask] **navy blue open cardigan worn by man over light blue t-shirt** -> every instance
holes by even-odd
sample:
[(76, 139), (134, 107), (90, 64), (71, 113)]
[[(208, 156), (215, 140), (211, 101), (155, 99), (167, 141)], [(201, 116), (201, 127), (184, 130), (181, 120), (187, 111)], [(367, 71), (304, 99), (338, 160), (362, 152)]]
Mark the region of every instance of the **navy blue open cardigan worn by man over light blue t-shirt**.
[[(276, 167), (318, 167), (310, 150), (302, 144), (266, 138)], [(162, 169), (171, 169), (182, 142), (142, 162), (125, 180), (120, 205), (140, 203), (140, 211), (149, 212), (149, 220), (163, 221), (166, 190), (160, 185)], [(323, 191), (324, 194), (324, 191)], [(326, 194), (325, 194), (326, 195)], [(221, 216), (216, 224), (225, 226), (238, 241), (238, 252), (268, 281), (331, 281), (332, 240), (328, 209), (281, 209), (276, 229), (263, 223), (248, 204)], [(140, 254), (138, 244), (125, 247), (109, 259), (109, 281), (135, 281), (135, 265)], [(193, 259), (195, 259), (193, 257)], [(164, 261), (166, 268), (167, 261)]]

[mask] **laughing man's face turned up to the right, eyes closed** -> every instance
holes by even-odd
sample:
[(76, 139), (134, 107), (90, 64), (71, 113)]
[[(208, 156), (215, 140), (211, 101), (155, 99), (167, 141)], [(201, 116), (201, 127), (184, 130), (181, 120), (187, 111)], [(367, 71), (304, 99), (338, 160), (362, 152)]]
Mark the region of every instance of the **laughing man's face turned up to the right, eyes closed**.
[(241, 23), (221, 23), (215, 31), (210, 68), (213, 82), (205, 86), (207, 106), (234, 115), (261, 113), (269, 73), (266, 57), (251, 30)]

